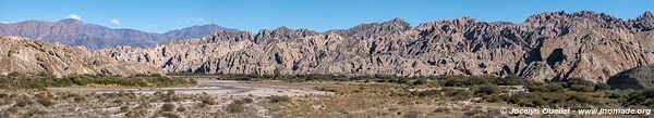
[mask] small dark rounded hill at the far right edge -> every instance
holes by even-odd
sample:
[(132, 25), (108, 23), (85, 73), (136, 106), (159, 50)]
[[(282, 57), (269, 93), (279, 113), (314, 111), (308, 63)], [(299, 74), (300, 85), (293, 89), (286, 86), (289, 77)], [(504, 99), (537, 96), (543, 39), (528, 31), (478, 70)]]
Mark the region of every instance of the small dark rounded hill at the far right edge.
[(654, 65), (639, 66), (611, 76), (606, 81), (613, 89), (640, 90), (654, 86)]

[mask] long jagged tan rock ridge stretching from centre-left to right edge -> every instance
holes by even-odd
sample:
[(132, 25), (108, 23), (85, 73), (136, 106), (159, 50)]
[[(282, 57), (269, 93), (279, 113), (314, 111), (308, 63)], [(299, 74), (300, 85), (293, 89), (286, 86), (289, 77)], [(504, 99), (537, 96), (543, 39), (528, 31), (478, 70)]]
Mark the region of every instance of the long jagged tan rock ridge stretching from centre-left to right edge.
[(517, 74), (544, 81), (606, 81), (650, 65), (654, 17), (622, 21), (593, 12), (549, 12), (522, 24), (470, 17), (411, 27), (402, 19), (315, 32), (279, 27), (256, 35), (217, 31), (149, 49), (99, 51), (168, 73), (388, 74), (399, 76)]

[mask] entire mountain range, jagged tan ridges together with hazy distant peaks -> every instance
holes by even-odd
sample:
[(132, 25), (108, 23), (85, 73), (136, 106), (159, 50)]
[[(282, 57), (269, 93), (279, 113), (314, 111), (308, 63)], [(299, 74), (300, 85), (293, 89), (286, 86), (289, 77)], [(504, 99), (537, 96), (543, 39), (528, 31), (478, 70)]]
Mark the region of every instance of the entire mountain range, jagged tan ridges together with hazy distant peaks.
[[(654, 63), (651, 12), (633, 19), (591, 11), (545, 12), (529, 16), (521, 24), (461, 17), (415, 27), (393, 18), (324, 32), (282, 26), (252, 34), (208, 25), (150, 34), (75, 19), (28, 21), (1, 27), (1, 32), (46, 42), (105, 48), (89, 52), (2, 38), (5, 45), (0, 50), (4, 52), (0, 60), (10, 65), (0, 68), (4, 73), (129, 74), (152, 73), (152, 67), (164, 73), (518, 75), (535, 81), (580, 77), (605, 82), (617, 74), (628, 75), (621, 78), (641, 77), (620, 71)], [(92, 58), (84, 58), (87, 56)], [(73, 65), (81, 66), (71, 69)], [(102, 69), (107, 67), (112, 69)]]

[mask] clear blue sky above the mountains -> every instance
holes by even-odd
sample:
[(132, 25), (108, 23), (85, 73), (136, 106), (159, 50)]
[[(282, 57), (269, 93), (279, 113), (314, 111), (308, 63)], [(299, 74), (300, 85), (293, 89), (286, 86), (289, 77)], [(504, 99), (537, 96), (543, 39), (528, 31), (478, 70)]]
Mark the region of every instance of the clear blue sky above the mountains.
[[(623, 19), (654, 11), (647, 0), (0, 0), (1, 22), (78, 16), (111, 28), (165, 32), (193, 25), (258, 31), (287, 26), (317, 31), (401, 17), (413, 26), (471, 16), (522, 23), (553, 11), (595, 11)], [(118, 24), (120, 23), (120, 24)]]

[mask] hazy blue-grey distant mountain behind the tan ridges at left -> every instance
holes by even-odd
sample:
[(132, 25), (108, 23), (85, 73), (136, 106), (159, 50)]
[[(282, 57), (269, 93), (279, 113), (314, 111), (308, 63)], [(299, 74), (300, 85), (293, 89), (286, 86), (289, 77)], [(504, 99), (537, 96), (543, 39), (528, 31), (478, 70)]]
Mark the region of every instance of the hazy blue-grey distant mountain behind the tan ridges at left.
[(66, 18), (59, 22), (26, 21), (0, 24), (0, 35), (21, 36), (45, 42), (61, 42), (89, 49), (116, 45), (150, 47), (170, 39), (199, 38), (216, 30), (235, 30), (214, 24), (193, 26), (166, 34), (145, 32), (134, 29), (111, 29), (82, 21)]

